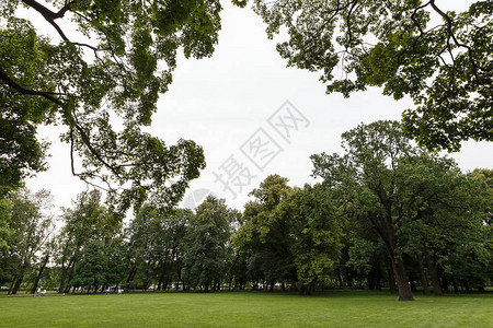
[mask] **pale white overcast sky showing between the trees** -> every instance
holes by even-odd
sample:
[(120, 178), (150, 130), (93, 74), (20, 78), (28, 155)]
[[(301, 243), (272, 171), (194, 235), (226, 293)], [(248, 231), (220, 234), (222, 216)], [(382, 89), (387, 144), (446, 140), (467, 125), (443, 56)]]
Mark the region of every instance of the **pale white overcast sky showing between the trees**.
[[(447, 10), (470, 2), (437, 1)], [(325, 94), (320, 73), (286, 68), (252, 10), (229, 2), (223, 7), (214, 56), (179, 58), (173, 83), (146, 129), (169, 145), (183, 138), (204, 148), (207, 167), (191, 183), (182, 207), (193, 208), (213, 192), (241, 210), (248, 194), (271, 174), (287, 177), (290, 186), (313, 184), (310, 155), (341, 153), (341, 133), (359, 124), (400, 119), (402, 110), (413, 107), (377, 87), (349, 98)], [(62, 131), (41, 129), (39, 136), (51, 142), (49, 169), (26, 184), (49, 189), (56, 208), (69, 207), (77, 194), (90, 189), (71, 175), (69, 147), (58, 141)], [(450, 156), (463, 172), (492, 168), (493, 143), (465, 142)]]

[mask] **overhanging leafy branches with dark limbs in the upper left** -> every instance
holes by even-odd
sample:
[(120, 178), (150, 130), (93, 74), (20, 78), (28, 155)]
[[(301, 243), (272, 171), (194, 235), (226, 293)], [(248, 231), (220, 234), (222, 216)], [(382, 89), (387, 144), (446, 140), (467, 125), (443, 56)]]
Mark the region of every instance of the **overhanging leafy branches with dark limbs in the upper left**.
[[(116, 209), (174, 206), (205, 166), (203, 150), (187, 140), (167, 147), (141, 127), (172, 81), (177, 51), (211, 56), (219, 1), (50, 2), (0, 4), (1, 192), (45, 168), (37, 127), (62, 125), (73, 175), (112, 191)], [(21, 3), (53, 38), (19, 17)]]

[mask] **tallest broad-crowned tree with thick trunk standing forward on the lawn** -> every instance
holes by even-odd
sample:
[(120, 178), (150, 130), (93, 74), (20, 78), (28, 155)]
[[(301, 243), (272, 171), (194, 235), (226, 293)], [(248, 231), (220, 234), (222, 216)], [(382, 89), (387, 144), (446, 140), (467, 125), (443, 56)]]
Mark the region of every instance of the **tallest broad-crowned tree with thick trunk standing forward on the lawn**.
[(435, 294), (448, 288), (447, 274), (484, 285), (491, 241), (484, 223), (492, 198), (483, 174), (465, 175), (452, 160), (412, 148), (394, 121), (343, 133), (343, 156), (313, 155), (313, 174), (344, 200), (349, 218), (366, 220), (378, 232), (400, 300), (412, 300), (411, 263), (417, 263), (423, 285), (427, 267)]

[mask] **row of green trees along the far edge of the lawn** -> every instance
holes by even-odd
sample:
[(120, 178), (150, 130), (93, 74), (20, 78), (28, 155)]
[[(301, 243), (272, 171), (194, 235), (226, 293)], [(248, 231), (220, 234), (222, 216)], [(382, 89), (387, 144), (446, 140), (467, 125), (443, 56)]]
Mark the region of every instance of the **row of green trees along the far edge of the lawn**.
[(493, 171), (462, 173), (414, 147), (394, 121), (343, 133), (316, 154), (313, 185), (271, 175), (242, 211), (207, 197), (194, 211), (145, 203), (124, 224), (98, 190), (46, 214), (49, 192), (0, 201), (8, 293), (220, 289), (484, 291), (493, 278)]

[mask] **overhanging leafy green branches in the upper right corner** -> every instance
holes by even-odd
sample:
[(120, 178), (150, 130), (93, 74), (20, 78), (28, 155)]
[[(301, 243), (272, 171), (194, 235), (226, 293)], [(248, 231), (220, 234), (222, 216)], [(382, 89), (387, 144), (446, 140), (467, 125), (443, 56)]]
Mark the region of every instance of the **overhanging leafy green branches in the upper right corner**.
[(328, 93), (377, 85), (410, 96), (404, 131), (421, 145), (457, 151), (463, 140), (493, 140), (491, 1), (460, 13), (435, 0), (255, 0), (254, 9), (271, 38), (286, 28), (277, 50), (288, 66), (322, 71)]

